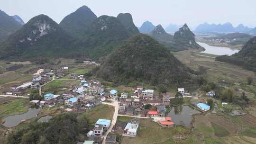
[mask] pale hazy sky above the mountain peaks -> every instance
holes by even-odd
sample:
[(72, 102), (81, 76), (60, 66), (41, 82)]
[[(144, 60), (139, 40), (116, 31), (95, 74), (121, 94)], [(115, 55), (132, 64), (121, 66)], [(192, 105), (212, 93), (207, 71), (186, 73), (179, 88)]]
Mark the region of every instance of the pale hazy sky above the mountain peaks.
[(256, 27), (256, 0), (0, 0), (0, 9), (25, 22), (45, 14), (59, 23), (82, 5), (98, 17), (129, 12), (137, 27), (149, 20), (164, 27), (170, 23), (198, 24), (230, 22)]

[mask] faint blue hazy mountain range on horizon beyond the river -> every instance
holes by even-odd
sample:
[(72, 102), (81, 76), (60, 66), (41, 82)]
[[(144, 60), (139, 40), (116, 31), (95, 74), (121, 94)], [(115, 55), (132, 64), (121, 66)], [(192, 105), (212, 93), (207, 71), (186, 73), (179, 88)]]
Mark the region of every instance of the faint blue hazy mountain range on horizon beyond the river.
[(196, 27), (195, 33), (248, 33), (251, 28), (244, 26), (243, 24), (238, 25), (238, 27), (233, 27), (231, 23), (225, 24), (208, 24), (204, 23)]

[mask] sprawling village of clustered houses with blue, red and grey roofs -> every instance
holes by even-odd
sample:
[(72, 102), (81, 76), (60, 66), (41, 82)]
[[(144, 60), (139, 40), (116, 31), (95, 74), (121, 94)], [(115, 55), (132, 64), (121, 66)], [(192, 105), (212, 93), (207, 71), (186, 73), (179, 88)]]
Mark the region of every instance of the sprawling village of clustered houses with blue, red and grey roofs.
[[(71, 73), (70, 77), (79, 81), (78, 85), (70, 85), (70, 89), (61, 94), (42, 92), (42, 86), (53, 80), (62, 79), (68, 69), (68, 67), (61, 67), (56, 71), (39, 69), (33, 75), (31, 82), (20, 86), (11, 86), (10, 91), (6, 91), (5, 94), (21, 97), (24, 96), (27, 89), (38, 89), (43, 99), (31, 100), (32, 105), (40, 108), (60, 107), (64, 108), (65, 112), (84, 112), (101, 104), (113, 105), (118, 109), (112, 119), (98, 119), (93, 129), (86, 134), (87, 140), (79, 142), (79, 144), (101, 144), (102, 142), (103, 144), (117, 144), (117, 135), (136, 137), (140, 120), (143, 118), (151, 118), (161, 127), (173, 128), (175, 126), (173, 118), (168, 116), (167, 111), (170, 108), (170, 101), (175, 97), (164, 94), (160, 98), (154, 93), (154, 90), (146, 89), (143, 86), (134, 88), (132, 94), (115, 89), (106, 90), (99, 80), (85, 80), (83, 75)], [(193, 97), (186, 93), (184, 88), (178, 88), (177, 92), (179, 98)], [(214, 91), (207, 94), (209, 97), (215, 96)], [(198, 103), (196, 107), (201, 112), (210, 110), (210, 106), (205, 103)], [(129, 122), (115, 121), (118, 116), (132, 119)]]

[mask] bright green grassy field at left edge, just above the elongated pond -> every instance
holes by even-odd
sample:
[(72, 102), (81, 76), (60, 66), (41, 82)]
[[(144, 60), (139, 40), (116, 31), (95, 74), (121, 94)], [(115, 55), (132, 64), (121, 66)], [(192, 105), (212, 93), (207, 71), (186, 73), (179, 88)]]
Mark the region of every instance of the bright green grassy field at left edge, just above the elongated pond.
[(0, 105), (0, 117), (8, 115), (21, 114), (30, 107), (29, 99), (13, 99), (7, 104)]

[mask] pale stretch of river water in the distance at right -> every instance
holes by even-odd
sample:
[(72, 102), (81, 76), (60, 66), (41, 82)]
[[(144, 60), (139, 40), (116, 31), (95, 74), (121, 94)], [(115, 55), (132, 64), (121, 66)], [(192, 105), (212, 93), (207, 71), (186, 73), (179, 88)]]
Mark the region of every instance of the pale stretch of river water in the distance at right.
[(226, 54), (232, 55), (239, 52), (239, 50), (234, 50), (229, 47), (210, 46), (205, 43), (200, 43), (200, 42), (197, 42), (197, 43), (205, 48), (205, 51), (201, 53), (215, 54), (215, 55), (226, 55)]

